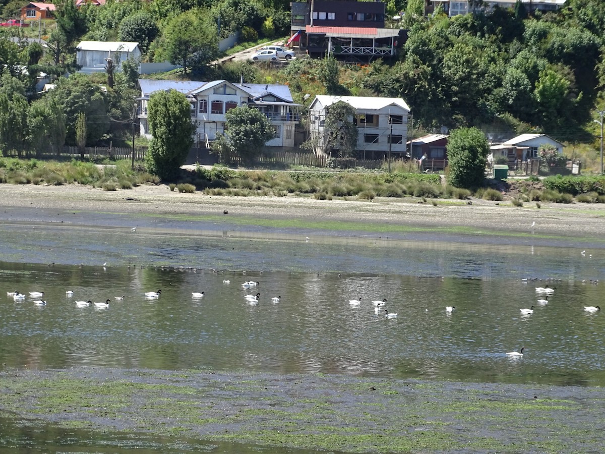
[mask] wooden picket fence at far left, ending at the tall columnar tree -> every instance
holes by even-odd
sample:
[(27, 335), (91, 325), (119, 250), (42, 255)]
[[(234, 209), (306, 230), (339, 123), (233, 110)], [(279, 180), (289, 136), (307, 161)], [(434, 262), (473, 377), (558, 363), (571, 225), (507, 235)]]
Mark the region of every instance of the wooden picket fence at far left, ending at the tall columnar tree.
[[(147, 148), (143, 146), (134, 147), (134, 160), (145, 159)], [(2, 156), (5, 157), (20, 157), (23, 159), (82, 159), (82, 154), (77, 146), (67, 146), (57, 150), (54, 147), (48, 147), (44, 150), (34, 150), (33, 148), (9, 148), (2, 150)], [(116, 147), (106, 148), (102, 146), (87, 146), (84, 148), (85, 160), (102, 160), (102, 159), (132, 159), (132, 148)]]

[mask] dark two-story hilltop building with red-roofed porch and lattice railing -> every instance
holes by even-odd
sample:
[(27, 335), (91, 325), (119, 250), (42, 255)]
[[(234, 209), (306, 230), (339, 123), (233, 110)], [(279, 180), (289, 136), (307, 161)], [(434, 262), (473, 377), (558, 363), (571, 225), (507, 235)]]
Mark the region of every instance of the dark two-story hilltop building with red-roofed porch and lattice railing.
[(384, 25), (384, 2), (293, 2), (289, 44), (319, 58), (326, 55), (348, 61), (391, 58), (401, 48), (405, 30)]

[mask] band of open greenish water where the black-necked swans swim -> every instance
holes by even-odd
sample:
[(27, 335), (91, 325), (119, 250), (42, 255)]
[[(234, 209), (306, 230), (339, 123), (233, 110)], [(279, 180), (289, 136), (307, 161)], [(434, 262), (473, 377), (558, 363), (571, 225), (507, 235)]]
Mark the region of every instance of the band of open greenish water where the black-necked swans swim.
[[(560, 251), (560, 262), (572, 262), (568, 252)], [(492, 270), (506, 265), (490, 263), (444, 256), (440, 270), (460, 269), (444, 277), (1, 263), (0, 362), (603, 386), (604, 314), (583, 310), (603, 306), (600, 285), (503, 278)], [(576, 258), (574, 269), (600, 275), (595, 263)], [(260, 284), (244, 289), (244, 280)], [(557, 290), (541, 306), (534, 287), (547, 284)], [(15, 303), (5, 295), (15, 289), (44, 291), (48, 304)], [(159, 298), (145, 298), (157, 289)], [(192, 298), (202, 291), (203, 298)], [(256, 292), (259, 303), (247, 303), (244, 295)], [(121, 295), (109, 308), (74, 302)], [(278, 295), (281, 301), (272, 303)], [(361, 304), (350, 306), (353, 298)], [(396, 319), (374, 312), (371, 300), (383, 298)], [(532, 315), (520, 314), (532, 305)], [(445, 306), (455, 309), (448, 314)], [(521, 347), (523, 358), (504, 355)]]

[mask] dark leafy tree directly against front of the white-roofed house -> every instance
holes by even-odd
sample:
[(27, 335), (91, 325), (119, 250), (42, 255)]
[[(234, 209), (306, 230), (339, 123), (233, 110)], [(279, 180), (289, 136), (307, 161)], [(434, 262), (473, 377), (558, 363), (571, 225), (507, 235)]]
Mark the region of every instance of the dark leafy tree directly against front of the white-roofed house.
[(353, 123), (355, 109), (344, 101), (332, 104), (325, 115), (325, 149), (338, 150), (338, 157), (350, 157), (357, 149), (357, 127)]

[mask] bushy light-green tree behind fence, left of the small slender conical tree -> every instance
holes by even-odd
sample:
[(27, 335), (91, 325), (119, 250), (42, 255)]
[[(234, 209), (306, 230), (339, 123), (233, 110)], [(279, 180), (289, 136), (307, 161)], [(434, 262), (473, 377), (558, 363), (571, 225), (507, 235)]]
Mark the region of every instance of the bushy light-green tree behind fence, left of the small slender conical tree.
[(48, 145), (57, 150), (65, 145), (65, 114), (62, 107), (50, 96), (31, 103), (27, 116), (29, 140), (38, 152)]

